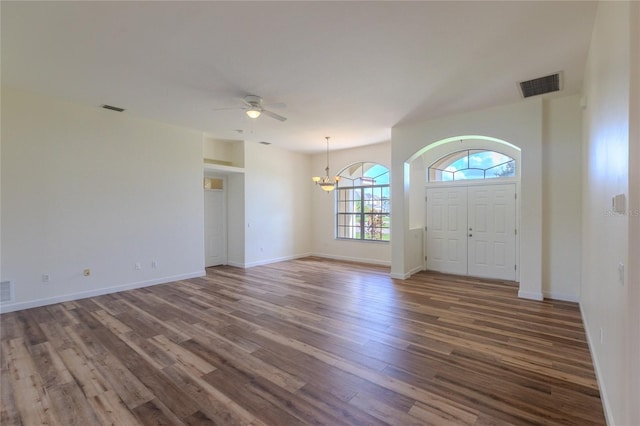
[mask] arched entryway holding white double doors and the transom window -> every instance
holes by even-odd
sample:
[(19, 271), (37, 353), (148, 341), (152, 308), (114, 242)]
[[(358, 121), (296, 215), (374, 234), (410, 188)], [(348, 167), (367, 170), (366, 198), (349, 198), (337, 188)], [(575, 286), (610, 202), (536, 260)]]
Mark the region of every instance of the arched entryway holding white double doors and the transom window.
[(518, 281), (520, 149), (458, 136), (417, 155), (426, 195), (424, 269)]

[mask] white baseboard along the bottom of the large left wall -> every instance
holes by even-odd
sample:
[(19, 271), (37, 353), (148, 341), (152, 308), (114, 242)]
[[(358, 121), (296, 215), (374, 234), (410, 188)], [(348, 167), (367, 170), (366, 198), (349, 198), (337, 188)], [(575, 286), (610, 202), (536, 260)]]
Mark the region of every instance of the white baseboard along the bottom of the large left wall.
[(29, 300), (28, 302), (12, 303), (10, 305), (2, 305), (0, 313), (14, 312), (22, 309), (38, 308), (40, 306), (52, 305), (54, 303), (69, 302), (71, 300), (86, 299), (87, 297), (102, 296), (104, 294), (116, 293), (125, 290), (134, 290), (136, 288), (149, 287), (157, 284), (166, 284), (174, 281), (186, 280), (189, 278), (204, 277), (204, 270), (191, 272), (188, 274), (174, 275), (171, 277), (156, 278), (149, 281), (138, 281), (134, 283), (117, 285), (114, 287), (103, 287), (95, 290), (81, 291), (79, 293), (63, 294), (61, 296), (48, 297), (45, 299)]

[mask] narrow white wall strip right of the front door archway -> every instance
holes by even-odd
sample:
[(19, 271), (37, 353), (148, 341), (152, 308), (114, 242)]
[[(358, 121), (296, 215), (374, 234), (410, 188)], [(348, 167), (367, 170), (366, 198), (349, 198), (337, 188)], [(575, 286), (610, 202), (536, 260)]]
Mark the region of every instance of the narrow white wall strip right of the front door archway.
[(544, 102), (542, 291), (580, 300), (580, 95)]

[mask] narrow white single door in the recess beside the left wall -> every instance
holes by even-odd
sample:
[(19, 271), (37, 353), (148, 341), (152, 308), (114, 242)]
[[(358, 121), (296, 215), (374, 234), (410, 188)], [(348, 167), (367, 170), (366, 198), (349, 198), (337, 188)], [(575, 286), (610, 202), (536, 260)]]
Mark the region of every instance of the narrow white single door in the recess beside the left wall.
[(205, 267), (227, 263), (225, 198), (224, 190), (204, 190)]

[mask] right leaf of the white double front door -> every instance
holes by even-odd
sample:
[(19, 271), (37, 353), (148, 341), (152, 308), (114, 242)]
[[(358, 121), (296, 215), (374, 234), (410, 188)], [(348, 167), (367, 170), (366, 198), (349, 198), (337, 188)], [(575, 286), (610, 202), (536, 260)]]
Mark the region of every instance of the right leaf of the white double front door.
[(468, 275), (515, 280), (515, 185), (470, 186)]

